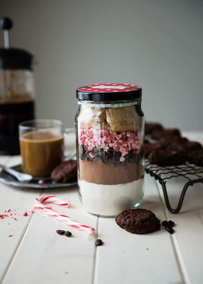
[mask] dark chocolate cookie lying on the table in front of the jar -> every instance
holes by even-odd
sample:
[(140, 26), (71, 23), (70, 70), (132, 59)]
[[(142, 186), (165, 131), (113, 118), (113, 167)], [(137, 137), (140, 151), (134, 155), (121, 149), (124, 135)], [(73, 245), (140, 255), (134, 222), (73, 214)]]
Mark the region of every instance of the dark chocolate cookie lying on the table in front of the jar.
[(116, 224), (133, 234), (146, 234), (161, 228), (160, 220), (150, 210), (132, 209), (125, 210), (116, 217)]

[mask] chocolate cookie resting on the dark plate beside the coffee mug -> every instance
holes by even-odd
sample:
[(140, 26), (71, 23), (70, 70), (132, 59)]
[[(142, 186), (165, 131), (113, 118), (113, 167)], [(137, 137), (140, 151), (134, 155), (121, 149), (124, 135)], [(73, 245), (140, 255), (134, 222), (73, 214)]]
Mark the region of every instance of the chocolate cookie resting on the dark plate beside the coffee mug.
[(52, 170), (51, 178), (55, 183), (65, 183), (77, 176), (77, 161), (69, 160)]

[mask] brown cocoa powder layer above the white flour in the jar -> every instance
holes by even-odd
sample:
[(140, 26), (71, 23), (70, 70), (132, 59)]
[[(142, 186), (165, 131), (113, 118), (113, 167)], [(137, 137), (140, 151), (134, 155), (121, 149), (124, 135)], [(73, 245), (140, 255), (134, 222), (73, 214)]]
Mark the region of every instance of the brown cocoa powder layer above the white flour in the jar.
[(94, 184), (126, 184), (141, 179), (144, 175), (141, 160), (126, 166), (115, 167), (114, 164), (104, 164), (102, 161), (93, 163), (79, 159), (80, 180)]

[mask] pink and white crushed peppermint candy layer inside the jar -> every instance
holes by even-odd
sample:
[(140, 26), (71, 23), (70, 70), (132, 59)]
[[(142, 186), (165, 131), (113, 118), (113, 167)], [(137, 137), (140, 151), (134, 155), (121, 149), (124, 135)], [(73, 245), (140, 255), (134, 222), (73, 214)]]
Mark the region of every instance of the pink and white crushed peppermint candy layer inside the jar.
[(104, 151), (114, 150), (120, 152), (120, 162), (125, 161), (125, 156), (131, 151), (139, 154), (142, 145), (142, 132), (123, 131), (116, 132), (110, 130), (80, 129), (79, 144), (84, 146), (90, 158), (95, 157), (94, 148), (103, 149)]

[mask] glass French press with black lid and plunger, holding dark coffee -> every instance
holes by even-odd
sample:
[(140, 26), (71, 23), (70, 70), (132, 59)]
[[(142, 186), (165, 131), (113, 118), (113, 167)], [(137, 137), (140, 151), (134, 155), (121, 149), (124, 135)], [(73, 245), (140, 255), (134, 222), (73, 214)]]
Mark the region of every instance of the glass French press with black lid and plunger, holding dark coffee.
[(0, 19), (4, 48), (0, 48), (0, 154), (19, 154), (18, 125), (34, 119), (33, 56), (10, 48), (8, 31), (12, 20)]

